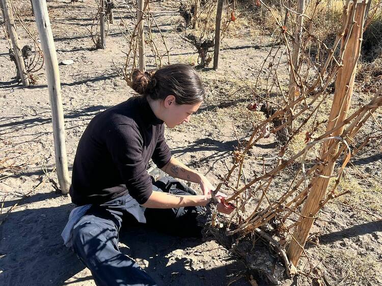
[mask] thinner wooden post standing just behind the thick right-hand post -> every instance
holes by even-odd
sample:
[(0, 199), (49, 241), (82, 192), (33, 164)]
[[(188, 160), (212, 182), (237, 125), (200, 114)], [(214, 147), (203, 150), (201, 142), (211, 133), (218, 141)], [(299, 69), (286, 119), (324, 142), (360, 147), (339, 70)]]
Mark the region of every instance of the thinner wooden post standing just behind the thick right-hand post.
[[(289, 74), (289, 92), (288, 92), (288, 100), (289, 102), (293, 102), (295, 100), (295, 94), (297, 90), (297, 82), (295, 75), (297, 73), (298, 60), (300, 54), (300, 41), (301, 34), (303, 32), (303, 23), (304, 17), (303, 14), (305, 12), (305, 0), (297, 0), (297, 15), (296, 15), (296, 27), (294, 30), (294, 43), (293, 43), (293, 52), (290, 66), (290, 74)], [(293, 108), (291, 108), (293, 112)], [(292, 114), (290, 115), (293, 116)], [(293, 121), (290, 124), (290, 129), (293, 129)]]

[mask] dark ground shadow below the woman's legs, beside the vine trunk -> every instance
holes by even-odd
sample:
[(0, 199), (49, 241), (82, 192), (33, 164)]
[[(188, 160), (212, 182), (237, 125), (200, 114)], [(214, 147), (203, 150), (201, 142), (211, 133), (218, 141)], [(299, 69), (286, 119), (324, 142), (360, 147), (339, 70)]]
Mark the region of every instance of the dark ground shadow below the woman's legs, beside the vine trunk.
[[(229, 275), (238, 274), (240, 270), (243, 270), (243, 263), (233, 259), (225, 266), (212, 270), (195, 269), (198, 268), (193, 266), (195, 262), (187, 258), (177, 257), (175, 262), (169, 263), (171, 259), (169, 253), (176, 249), (187, 249), (203, 243), (199, 238), (181, 238), (162, 234), (149, 227), (139, 226), (121, 232), (120, 239), (129, 247), (129, 249), (123, 250), (125, 254), (134, 260), (144, 259), (148, 262), (145, 270), (158, 283), (158, 286), (227, 285), (232, 278), (228, 277)], [(231, 285), (250, 284), (245, 279), (240, 279)]]

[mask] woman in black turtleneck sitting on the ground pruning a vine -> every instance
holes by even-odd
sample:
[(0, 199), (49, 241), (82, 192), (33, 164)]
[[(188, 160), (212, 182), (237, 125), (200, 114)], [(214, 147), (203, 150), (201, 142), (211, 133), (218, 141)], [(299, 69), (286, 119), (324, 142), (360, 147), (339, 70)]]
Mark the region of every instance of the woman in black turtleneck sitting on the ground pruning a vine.
[[(200, 235), (196, 214), (214, 189), (203, 175), (171, 156), (163, 136), (163, 123), (173, 128), (188, 122), (203, 102), (197, 72), (180, 64), (156, 72), (136, 70), (131, 87), (141, 96), (95, 116), (79, 140), (73, 163), (70, 195), (81, 211), (73, 215), (74, 209), (69, 219), (74, 225), (70, 245), (97, 285), (156, 285), (119, 251), (122, 221), (134, 218), (178, 235)], [(199, 183), (203, 195), (170, 179), (156, 184), (147, 173), (150, 159), (172, 177)], [(222, 203), (218, 210), (231, 212)]]

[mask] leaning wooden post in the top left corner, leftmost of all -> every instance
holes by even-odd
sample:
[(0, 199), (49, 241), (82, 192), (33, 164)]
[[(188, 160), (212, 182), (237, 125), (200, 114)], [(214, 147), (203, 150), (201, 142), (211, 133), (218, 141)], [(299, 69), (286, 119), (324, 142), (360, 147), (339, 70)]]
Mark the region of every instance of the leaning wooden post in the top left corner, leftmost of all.
[(21, 46), (18, 41), (18, 36), (13, 19), (12, 5), (9, 0), (1, 0), (4, 8), (4, 20), (7, 26), (9, 38), (11, 38), (12, 49), (15, 55), (17, 72), (25, 88), (29, 87), (28, 73), (26, 72), (24, 58), (22, 57)]

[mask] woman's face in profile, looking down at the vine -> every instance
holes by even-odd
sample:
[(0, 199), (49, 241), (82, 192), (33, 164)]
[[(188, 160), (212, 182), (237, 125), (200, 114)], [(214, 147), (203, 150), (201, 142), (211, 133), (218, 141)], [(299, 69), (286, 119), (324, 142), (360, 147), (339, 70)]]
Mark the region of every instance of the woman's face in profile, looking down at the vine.
[(166, 123), (167, 127), (174, 128), (177, 125), (188, 122), (191, 115), (199, 109), (201, 104), (202, 102), (177, 104), (175, 97), (169, 95), (163, 102), (165, 112), (163, 112), (162, 120)]

